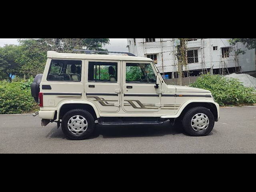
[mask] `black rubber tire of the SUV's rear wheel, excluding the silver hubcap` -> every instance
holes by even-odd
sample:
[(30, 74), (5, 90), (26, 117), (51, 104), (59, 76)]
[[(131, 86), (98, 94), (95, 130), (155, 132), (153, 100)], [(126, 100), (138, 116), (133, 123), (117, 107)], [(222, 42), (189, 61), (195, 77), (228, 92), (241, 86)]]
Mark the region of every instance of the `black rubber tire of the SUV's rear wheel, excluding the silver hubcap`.
[[(80, 135), (73, 134), (68, 128), (68, 121), (70, 120), (70, 118), (72, 118), (73, 116), (76, 116), (76, 115), (80, 115), (80, 116), (83, 116), (84, 118), (86, 118), (86, 121), (88, 124), (86, 131)], [(90, 114), (88, 111), (82, 110), (82, 109), (73, 109), (73, 110), (66, 112), (66, 114), (63, 116), (62, 122), (61, 122), (62, 131), (66, 135), (66, 137), (70, 140), (83, 140), (83, 139), (88, 138), (94, 131), (94, 127), (95, 127), (95, 120), (94, 120), (92, 114)]]

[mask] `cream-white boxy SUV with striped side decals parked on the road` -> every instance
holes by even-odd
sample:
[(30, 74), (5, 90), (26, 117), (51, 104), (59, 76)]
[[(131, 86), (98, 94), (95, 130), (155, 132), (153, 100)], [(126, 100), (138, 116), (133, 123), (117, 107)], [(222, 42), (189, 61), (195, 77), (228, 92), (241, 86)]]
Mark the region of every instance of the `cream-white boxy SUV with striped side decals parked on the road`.
[[(131, 54), (130, 54), (131, 55)], [(57, 122), (69, 139), (85, 139), (95, 124), (182, 121), (191, 136), (205, 136), (219, 120), (208, 90), (167, 85), (150, 58), (47, 52), (44, 74), (32, 83), (42, 126)]]

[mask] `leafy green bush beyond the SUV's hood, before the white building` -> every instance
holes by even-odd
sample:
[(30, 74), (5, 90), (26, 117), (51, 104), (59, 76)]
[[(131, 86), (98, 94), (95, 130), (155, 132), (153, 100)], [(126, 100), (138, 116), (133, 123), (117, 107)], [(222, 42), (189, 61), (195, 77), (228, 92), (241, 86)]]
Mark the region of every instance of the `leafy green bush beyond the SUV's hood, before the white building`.
[(210, 90), (220, 106), (256, 103), (256, 90), (243, 86), (234, 78), (207, 74), (190, 86)]

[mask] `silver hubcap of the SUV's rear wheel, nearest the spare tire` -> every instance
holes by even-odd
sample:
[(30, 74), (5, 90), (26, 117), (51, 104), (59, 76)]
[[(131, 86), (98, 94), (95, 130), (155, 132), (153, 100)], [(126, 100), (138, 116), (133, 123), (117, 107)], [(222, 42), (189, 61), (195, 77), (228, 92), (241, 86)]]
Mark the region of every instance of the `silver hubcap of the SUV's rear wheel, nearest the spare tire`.
[(72, 132), (72, 134), (80, 135), (83, 134), (88, 127), (88, 123), (86, 118), (81, 115), (72, 116), (68, 120), (68, 130)]

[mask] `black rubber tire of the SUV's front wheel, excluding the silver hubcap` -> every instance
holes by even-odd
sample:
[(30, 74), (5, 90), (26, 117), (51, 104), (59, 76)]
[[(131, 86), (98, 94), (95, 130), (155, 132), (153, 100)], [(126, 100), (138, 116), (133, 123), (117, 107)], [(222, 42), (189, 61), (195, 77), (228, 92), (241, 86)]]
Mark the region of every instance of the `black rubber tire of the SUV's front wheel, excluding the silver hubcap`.
[[(192, 118), (198, 113), (205, 114), (206, 116), (208, 116), (208, 119), (209, 119), (208, 127), (202, 131), (194, 130), (191, 125)], [(183, 120), (182, 120), (182, 125), (183, 125), (184, 131), (190, 136), (206, 136), (212, 131), (212, 129), (214, 127), (214, 115), (208, 108), (194, 107), (194, 108), (189, 109), (185, 113)]]

